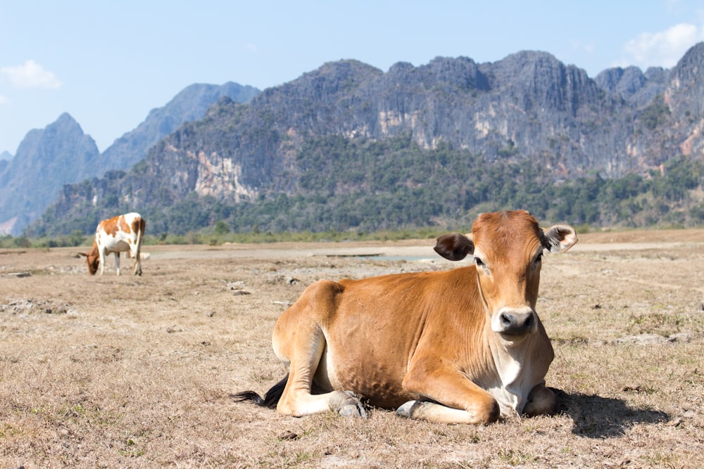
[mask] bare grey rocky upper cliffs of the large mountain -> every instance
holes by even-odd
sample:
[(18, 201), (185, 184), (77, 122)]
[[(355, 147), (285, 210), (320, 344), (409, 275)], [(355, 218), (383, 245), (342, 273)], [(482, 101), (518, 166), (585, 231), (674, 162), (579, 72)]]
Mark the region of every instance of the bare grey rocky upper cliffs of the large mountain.
[(64, 191), (55, 213), (86, 201), (99, 211), (110, 198), (139, 210), (190, 195), (222, 203), (296, 195), (307, 164), (301, 150), (332, 135), (408, 135), (420, 148), (449, 144), (485, 162), (529, 161), (548, 168), (553, 181), (645, 174), (681, 153), (704, 158), (703, 61), (698, 44), (673, 70), (610, 69), (596, 79), (535, 51), (496, 63), (397, 63), (388, 72), (355, 60), (326, 63), (248, 105), (220, 101), (130, 172)]

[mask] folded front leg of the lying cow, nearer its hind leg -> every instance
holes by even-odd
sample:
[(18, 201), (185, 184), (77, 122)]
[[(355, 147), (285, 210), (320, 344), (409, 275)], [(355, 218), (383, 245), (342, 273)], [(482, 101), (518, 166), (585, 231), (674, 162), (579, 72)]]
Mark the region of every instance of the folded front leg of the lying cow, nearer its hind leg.
[(451, 368), (413, 366), (403, 380), (403, 388), (424, 399), (406, 402), (396, 410), (398, 416), (472, 424), (493, 423), (501, 416), (491, 394)]

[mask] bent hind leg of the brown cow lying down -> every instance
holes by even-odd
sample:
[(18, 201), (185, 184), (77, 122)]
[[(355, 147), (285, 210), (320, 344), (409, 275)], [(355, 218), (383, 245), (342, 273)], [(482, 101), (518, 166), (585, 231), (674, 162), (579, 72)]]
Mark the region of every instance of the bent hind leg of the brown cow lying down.
[[(337, 293), (339, 285), (332, 281), (311, 285), (301, 295), (302, 300), (284, 311), (274, 328), (274, 352), (289, 368), (289, 380), (276, 408), (284, 415), (300, 417), (332, 409), (344, 416), (366, 417), (363, 405), (350, 392), (311, 394), (313, 377), (326, 345), (325, 334), (316, 319), (320, 315), (329, 316), (325, 311), (334, 311), (330, 309), (334, 307), (335, 297), (331, 290)], [(326, 302), (327, 299), (330, 301)]]

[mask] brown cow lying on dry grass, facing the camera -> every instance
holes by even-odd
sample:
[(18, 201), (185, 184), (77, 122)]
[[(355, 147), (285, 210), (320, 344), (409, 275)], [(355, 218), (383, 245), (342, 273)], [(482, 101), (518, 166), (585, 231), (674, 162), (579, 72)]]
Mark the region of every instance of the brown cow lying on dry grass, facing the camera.
[(541, 259), (576, 242), (571, 226), (541, 229), (528, 212), (482, 214), (435, 246), (474, 265), (313, 283), (274, 328), (286, 377), (265, 397), (234, 398), (291, 416), (365, 416), (362, 401), (446, 423), (553, 413), (553, 347), (535, 311)]

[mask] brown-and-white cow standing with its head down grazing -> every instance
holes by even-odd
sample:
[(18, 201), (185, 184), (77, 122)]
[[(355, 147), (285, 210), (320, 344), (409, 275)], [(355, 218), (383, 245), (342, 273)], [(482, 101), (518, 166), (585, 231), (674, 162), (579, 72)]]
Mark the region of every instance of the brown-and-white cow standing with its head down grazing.
[(111, 252), (115, 253), (115, 269), (120, 275), (120, 252), (127, 251), (134, 257), (134, 275), (142, 275), (142, 238), (146, 223), (138, 213), (127, 213), (103, 220), (95, 230), (95, 240), (90, 252), (79, 252), (85, 256), (88, 272), (94, 275), (98, 271), (105, 273), (105, 259)]

